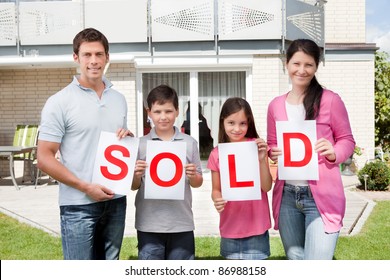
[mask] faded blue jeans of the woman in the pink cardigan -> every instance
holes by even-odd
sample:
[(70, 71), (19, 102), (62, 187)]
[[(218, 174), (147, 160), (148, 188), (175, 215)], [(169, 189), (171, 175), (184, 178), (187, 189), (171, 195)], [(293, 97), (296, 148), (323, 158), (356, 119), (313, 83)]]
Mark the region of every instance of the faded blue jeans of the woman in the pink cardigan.
[(331, 260), (339, 232), (326, 233), (308, 186), (285, 184), (279, 233), (290, 260)]

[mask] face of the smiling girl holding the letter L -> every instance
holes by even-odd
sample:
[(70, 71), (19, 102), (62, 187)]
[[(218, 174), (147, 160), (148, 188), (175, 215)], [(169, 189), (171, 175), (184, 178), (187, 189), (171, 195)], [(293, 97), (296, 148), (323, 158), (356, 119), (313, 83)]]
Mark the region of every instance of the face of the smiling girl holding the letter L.
[(230, 142), (244, 141), (246, 132), (248, 131), (248, 118), (244, 110), (241, 109), (225, 118), (223, 120), (223, 126)]

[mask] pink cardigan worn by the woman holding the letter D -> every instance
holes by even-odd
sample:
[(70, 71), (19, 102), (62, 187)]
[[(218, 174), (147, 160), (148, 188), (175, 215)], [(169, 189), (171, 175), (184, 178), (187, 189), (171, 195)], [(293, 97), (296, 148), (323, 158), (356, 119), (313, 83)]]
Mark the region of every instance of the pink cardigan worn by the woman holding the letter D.
[[(277, 147), (276, 121), (287, 121), (287, 94), (274, 98), (268, 106), (267, 142), (269, 148)], [(345, 194), (339, 164), (353, 154), (355, 140), (352, 136), (348, 113), (340, 96), (330, 90), (323, 91), (320, 113), (316, 119), (317, 139), (328, 139), (334, 147), (336, 161), (330, 162), (318, 154), (319, 180), (309, 185), (327, 233), (337, 232), (343, 226)], [(275, 229), (279, 228), (279, 210), (284, 181), (276, 179), (272, 210)]]

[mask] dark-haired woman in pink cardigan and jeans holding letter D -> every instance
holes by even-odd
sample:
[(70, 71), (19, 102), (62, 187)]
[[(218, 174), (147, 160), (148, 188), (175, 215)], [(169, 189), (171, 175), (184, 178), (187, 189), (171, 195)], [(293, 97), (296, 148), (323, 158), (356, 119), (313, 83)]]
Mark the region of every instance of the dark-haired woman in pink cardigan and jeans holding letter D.
[(279, 180), (273, 190), (275, 229), (288, 259), (332, 259), (345, 213), (339, 164), (352, 153), (355, 141), (340, 96), (324, 89), (315, 73), (321, 49), (311, 40), (295, 40), (286, 53), (292, 89), (268, 107), (268, 155), (282, 155), (276, 121), (315, 120), (319, 180)]

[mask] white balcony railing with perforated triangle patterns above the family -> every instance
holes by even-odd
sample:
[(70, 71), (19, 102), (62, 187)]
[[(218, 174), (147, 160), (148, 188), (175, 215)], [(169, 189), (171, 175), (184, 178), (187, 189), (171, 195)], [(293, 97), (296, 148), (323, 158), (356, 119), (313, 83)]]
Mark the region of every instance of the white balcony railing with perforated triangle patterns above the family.
[(324, 45), (322, 0), (110, 0), (0, 3), (0, 46), (70, 44), (85, 27), (110, 43), (310, 38)]

